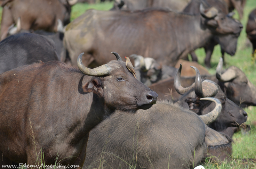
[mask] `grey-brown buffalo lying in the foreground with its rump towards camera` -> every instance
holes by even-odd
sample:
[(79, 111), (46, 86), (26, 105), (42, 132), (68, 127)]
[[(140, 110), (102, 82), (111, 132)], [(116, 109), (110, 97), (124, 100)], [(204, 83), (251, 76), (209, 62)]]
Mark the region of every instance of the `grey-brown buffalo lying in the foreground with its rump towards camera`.
[(230, 138), (194, 112), (160, 101), (131, 116), (119, 111), (93, 129), (83, 168), (187, 169), (205, 159), (207, 144), (209, 150), (229, 148)]

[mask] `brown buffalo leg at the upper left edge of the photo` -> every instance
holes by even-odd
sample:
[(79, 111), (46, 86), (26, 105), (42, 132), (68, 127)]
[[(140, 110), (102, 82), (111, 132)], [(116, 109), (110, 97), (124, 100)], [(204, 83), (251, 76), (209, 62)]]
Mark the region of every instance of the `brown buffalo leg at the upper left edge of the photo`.
[(2, 13), (2, 22), (1, 22), (1, 29), (0, 29), (0, 40), (2, 41), (7, 37), (8, 34), (8, 28), (14, 24), (13, 22), (13, 17), (11, 14), (11, 10), (5, 6), (3, 8), (3, 13)]

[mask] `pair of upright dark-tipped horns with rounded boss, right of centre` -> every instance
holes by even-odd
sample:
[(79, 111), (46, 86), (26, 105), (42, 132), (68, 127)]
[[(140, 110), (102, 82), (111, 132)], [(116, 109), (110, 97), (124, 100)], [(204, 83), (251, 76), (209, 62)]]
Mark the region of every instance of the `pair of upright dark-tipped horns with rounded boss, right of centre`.
[(175, 90), (181, 95), (189, 92), (190, 90), (194, 90), (195, 94), (202, 98), (215, 95), (218, 92), (218, 87), (212, 81), (209, 81), (209, 80), (205, 80), (202, 82), (199, 70), (194, 66), (190, 66), (190, 67), (192, 67), (195, 70), (195, 83), (193, 83), (191, 86), (186, 88), (181, 86), (182, 65), (180, 65), (174, 78)]

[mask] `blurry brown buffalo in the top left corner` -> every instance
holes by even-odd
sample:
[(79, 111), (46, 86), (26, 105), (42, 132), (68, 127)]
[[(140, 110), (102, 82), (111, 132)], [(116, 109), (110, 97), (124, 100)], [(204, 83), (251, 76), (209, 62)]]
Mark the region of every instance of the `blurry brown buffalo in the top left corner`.
[(70, 23), (71, 6), (77, 0), (5, 0), (0, 40), (7, 37), (8, 28), (21, 19), (21, 29), (43, 29), (57, 32), (58, 19), (67, 25)]

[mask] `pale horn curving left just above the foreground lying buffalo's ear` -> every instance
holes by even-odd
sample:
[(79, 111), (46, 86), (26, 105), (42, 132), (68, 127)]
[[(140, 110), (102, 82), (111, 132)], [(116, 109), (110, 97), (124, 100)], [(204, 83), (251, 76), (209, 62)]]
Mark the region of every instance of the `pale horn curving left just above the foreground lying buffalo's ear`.
[(206, 115), (199, 116), (206, 125), (211, 124), (217, 119), (219, 113), (221, 112), (222, 104), (216, 98), (201, 98), (200, 100), (209, 100), (215, 102), (215, 108), (213, 111), (207, 113)]

